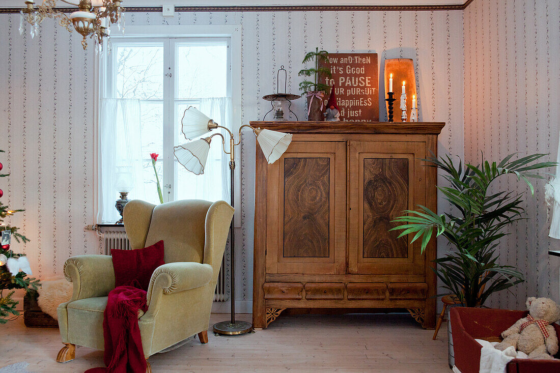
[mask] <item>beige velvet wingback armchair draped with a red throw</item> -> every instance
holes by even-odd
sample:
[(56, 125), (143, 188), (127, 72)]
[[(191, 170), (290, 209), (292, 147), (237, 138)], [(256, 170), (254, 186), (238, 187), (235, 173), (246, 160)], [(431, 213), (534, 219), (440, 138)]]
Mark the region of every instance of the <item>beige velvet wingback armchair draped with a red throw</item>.
[[(223, 201), (130, 201), (123, 220), (132, 248), (164, 240), (165, 264), (152, 274), (148, 310), (139, 311), (144, 357), (198, 333), (208, 342), (212, 300), (234, 208)], [(64, 263), (72, 299), (58, 307), (64, 347), (58, 362), (73, 360), (76, 345), (104, 348), (103, 312), (115, 288), (110, 255), (78, 255)], [(148, 371), (151, 371), (148, 363)]]

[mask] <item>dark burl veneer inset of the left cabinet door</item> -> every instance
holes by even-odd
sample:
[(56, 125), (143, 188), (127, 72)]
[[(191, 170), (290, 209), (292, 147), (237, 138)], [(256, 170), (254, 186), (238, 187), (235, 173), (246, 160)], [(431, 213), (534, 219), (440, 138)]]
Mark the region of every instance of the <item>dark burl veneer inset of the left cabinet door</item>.
[(329, 158), (284, 158), (284, 258), (329, 257)]

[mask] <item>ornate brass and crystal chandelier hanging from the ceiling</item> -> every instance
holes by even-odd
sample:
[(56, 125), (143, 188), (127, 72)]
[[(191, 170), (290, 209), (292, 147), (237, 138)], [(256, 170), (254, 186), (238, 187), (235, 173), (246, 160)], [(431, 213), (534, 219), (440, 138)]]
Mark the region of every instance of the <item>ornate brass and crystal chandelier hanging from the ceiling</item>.
[[(40, 0), (39, 0), (40, 1)], [(83, 36), (82, 46), (87, 48), (86, 38), (89, 36), (95, 40), (97, 50), (102, 50), (103, 41), (109, 38), (109, 27), (117, 24), (119, 30), (124, 34), (124, 14), (123, 7), (120, 6), (122, 0), (60, 0), (61, 2), (78, 7), (78, 11), (66, 15), (56, 9), (57, 0), (44, 0), (39, 6), (35, 6), (35, 0), (27, 0), (26, 8), (21, 11), (20, 34), (25, 31), (25, 22), (31, 25), (30, 35), (34, 38), (39, 32), (39, 24), (45, 18), (58, 20), (69, 32), (72, 32), (71, 25)], [(79, 2), (78, 2), (79, 1)]]

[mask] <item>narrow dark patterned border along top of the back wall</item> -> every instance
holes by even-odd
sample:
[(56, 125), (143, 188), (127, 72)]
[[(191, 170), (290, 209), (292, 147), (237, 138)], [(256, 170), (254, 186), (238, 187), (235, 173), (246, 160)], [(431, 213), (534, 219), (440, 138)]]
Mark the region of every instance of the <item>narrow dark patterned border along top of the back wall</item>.
[[(23, 0), (22, 0), (23, 2)], [(409, 1), (410, 2), (410, 1)], [(464, 10), (473, 0), (465, 3), (450, 4), (409, 4), (409, 5), (213, 5), (182, 6), (175, 5), (175, 12), (287, 12), (287, 11), (447, 11)], [(126, 3), (126, 1), (124, 1)], [(424, 2), (425, 3), (425, 2)], [(3, 7), (2, 13), (19, 13), (22, 7)], [(59, 7), (62, 12), (74, 12), (76, 7)], [(161, 13), (162, 6), (125, 6), (125, 12)]]

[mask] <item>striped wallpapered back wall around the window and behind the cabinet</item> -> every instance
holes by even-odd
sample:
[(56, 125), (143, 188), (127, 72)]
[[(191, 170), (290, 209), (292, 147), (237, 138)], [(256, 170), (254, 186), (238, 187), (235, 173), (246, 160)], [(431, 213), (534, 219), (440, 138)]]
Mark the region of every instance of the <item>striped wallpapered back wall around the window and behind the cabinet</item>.
[[(60, 277), (69, 256), (99, 252), (95, 233), (83, 231), (94, 223), (94, 52), (83, 52), (77, 34), (50, 20), (35, 39), (20, 36), (18, 24), (18, 15), (0, 15), (0, 148), (7, 151), (0, 161), (12, 174), (0, 187), (4, 202), (26, 209), (15, 223), (31, 239), (24, 251), (32, 268), (41, 278)], [(463, 156), (463, 11), (129, 13), (127, 24), (242, 25), (242, 123), (268, 111), (260, 97), (276, 91), (281, 65), (288, 69), (288, 92), (297, 92), (301, 59), (315, 46), (376, 52), (381, 66), (385, 58), (413, 58), (419, 119), (447, 122), (440, 152)], [(305, 118), (304, 100), (293, 106)], [(386, 120), (384, 109), (380, 117)], [(236, 255), (236, 288), (244, 300), (252, 299), (254, 147), (247, 136)]]

